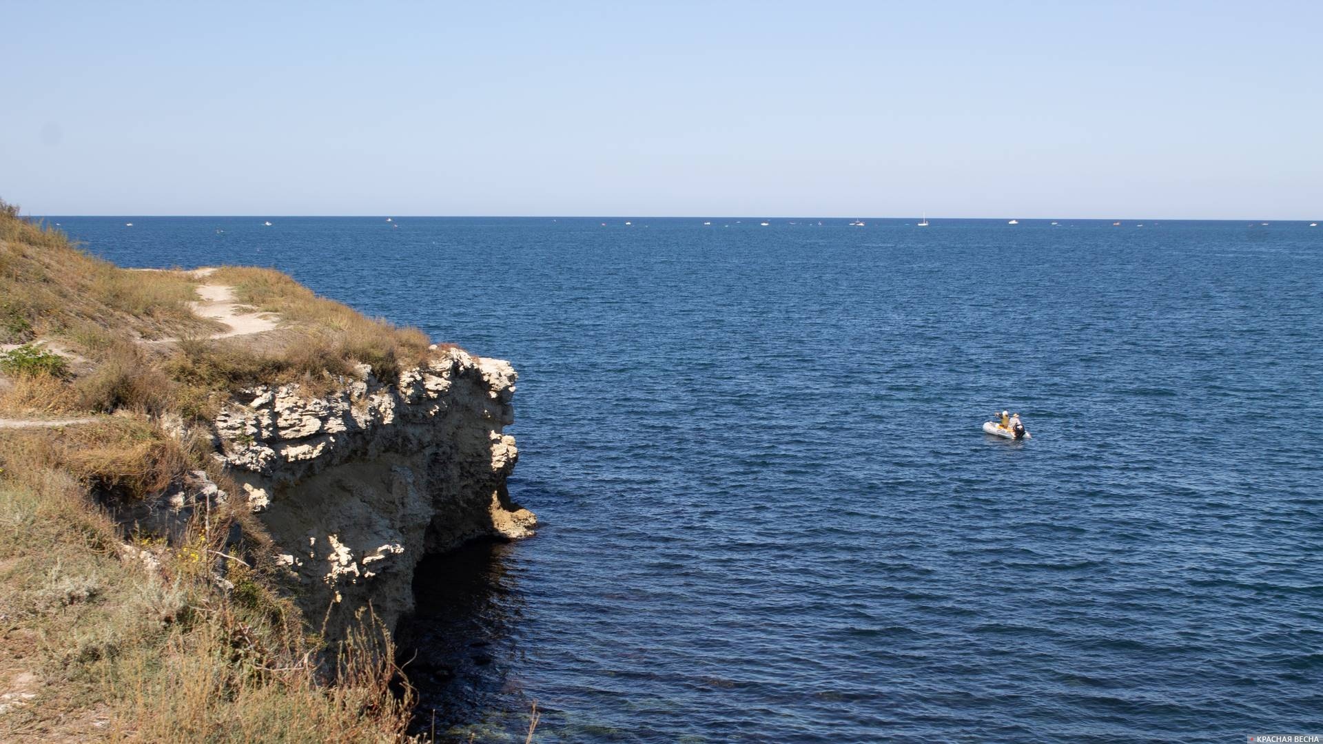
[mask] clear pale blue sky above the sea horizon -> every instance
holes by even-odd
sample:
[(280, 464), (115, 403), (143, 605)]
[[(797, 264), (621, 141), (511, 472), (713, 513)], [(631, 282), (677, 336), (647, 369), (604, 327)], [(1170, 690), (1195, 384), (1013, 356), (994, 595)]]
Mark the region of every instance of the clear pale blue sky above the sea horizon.
[(1323, 217), (1323, 3), (0, 17), (32, 214)]

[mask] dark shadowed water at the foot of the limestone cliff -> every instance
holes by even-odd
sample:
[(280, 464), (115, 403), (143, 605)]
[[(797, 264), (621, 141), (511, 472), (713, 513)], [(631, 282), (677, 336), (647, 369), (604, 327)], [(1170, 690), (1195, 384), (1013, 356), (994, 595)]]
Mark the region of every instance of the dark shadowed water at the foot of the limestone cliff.
[(475, 540), (418, 564), (415, 609), (396, 635), (397, 658), (407, 662), (405, 674), (418, 691), (414, 732), (427, 736), (435, 725), (438, 741), (468, 741), (480, 733), (475, 721), (503, 728), (512, 699), (521, 699), (509, 678), (517, 653), (512, 630), (523, 613), (507, 567), (512, 548)]

